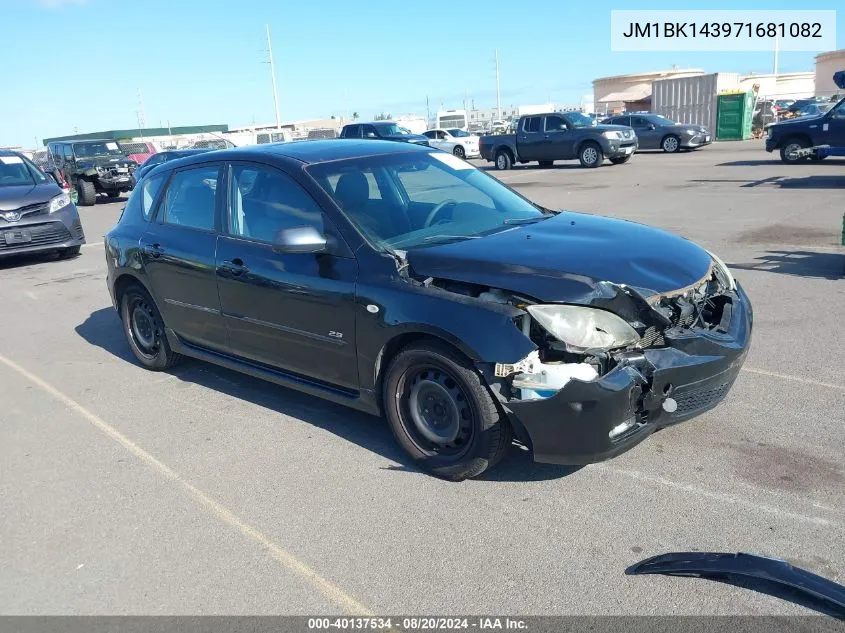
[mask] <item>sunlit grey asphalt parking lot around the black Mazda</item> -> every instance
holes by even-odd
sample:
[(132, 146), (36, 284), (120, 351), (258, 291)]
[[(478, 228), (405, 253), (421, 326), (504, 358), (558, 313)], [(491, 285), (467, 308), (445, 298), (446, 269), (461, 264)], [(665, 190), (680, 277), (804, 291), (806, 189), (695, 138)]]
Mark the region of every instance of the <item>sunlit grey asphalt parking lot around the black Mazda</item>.
[(808, 613), (623, 573), (689, 550), (845, 582), (845, 161), (753, 141), (491, 173), (720, 255), (755, 309), (727, 400), (603, 464), (514, 450), (440, 481), (377, 418), (199, 362), (141, 369), (105, 286), (122, 203), (82, 208), (80, 257), (0, 260), (0, 611)]

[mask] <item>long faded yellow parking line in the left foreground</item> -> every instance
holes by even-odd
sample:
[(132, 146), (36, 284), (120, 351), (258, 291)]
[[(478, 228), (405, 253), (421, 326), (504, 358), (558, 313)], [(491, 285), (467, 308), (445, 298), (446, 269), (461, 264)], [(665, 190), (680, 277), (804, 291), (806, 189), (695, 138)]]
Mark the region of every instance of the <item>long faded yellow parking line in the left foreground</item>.
[(118, 431), (116, 428), (105, 422), (102, 418), (98, 417), (97, 415), (83, 407), (76, 400), (69, 396), (66, 396), (47, 381), (27, 371), (26, 369), (24, 369), (14, 361), (9, 360), (5, 356), (0, 355), (0, 364), (3, 364), (9, 369), (20, 374), (21, 376), (29, 380), (31, 383), (35, 384), (37, 387), (53, 396), (53, 398), (55, 398), (59, 402), (62, 402), (68, 408), (76, 411), (76, 413), (88, 420), (88, 422), (93, 424), (100, 431), (105, 433), (108, 437), (123, 446), (126, 450), (132, 453), (135, 457), (137, 457), (147, 466), (150, 466), (154, 470), (157, 470), (166, 479), (181, 486), (194, 499), (194, 501), (199, 503), (206, 510), (209, 510), (212, 514), (214, 514), (218, 519), (220, 519), (224, 523), (237, 529), (246, 538), (265, 547), (270, 552), (270, 555), (275, 558), (276, 561), (278, 561), (282, 565), (282, 567), (304, 578), (315, 589), (322, 592), (334, 603), (343, 607), (343, 609), (345, 609), (347, 612), (353, 615), (373, 615), (372, 611), (370, 611), (363, 604), (355, 600), (355, 598), (350, 596), (348, 593), (343, 591), (343, 589), (335, 585), (330, 580), (323, 578), (320, 574), (318, 574), (311, 567), (297, 559), (293, 554), (285, 550), (282, 546), (271, 541), (267, 536), (262, 534), (256, 528), (249, 525), (246, 521), (238, 517), (235, 513), (226, 508), (223, 504), (209, 497), (202, 490), (186, 481), (175, 470), (150, 455), (143, 448), (135, 444), (135, 442), (133, 442), (128, 437), (123, 435), (120, 431)]

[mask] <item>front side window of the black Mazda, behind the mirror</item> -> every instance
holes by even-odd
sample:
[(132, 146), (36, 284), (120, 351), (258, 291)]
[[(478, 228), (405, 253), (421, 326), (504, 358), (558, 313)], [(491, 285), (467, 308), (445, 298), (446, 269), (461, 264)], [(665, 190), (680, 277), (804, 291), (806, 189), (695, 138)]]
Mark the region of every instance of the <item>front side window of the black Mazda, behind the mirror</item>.
[(325, 230), (323, 212), (305, 189), (280, 171), (255, 165), (232, 167), (227, 226), (232, 235), (269, 243), (282, 229)]

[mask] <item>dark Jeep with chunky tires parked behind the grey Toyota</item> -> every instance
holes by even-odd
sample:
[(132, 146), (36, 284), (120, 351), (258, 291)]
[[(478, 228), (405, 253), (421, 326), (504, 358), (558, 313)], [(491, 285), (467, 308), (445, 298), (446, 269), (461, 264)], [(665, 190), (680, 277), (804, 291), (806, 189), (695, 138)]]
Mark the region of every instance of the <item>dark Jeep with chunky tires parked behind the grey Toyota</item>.
[(117, 198), (132, 190), (132, 174), (138, 163), (114, 141), (53, 141), (47, 149), (76, 189), (80, 206), (94, 204), (98, 193)]

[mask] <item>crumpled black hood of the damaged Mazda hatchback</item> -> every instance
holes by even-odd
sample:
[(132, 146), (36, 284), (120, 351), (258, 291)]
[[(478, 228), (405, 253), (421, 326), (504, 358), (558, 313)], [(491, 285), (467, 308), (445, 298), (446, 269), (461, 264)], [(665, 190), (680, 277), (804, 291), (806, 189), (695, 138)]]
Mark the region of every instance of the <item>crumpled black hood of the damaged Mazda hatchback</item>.
[(703, 248), (666, 231), (568, 211), (481, 239), (411, 249), (407, 258), (417, 275), (574, 303), (606, 296), (602, 282), (646, 296), (678, 290), (700, 281), (712, 263)]

